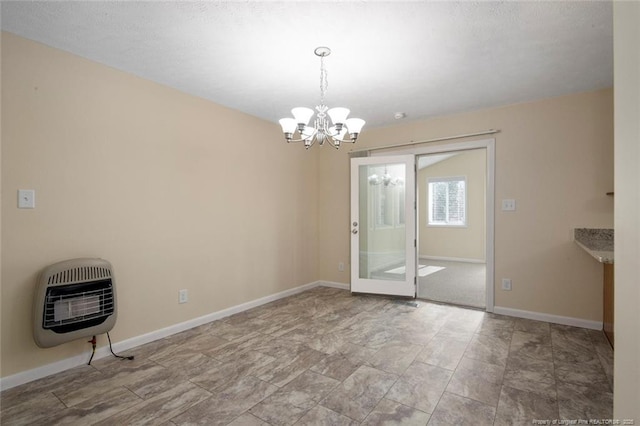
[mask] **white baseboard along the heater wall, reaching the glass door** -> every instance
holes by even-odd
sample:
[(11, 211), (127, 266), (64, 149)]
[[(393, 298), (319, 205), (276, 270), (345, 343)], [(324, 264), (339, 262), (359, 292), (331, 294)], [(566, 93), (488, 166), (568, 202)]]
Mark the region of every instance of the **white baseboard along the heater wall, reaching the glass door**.
[[(146, 343), (150, 343), (155, 340), (162, 339), (167, 336), (171, 336), (172, 334), (176, 334), (181, 331), (185, 331), (190, 328), (194, 328), (211, 321), (226, 318), (233, 314), (244, 312), (249, 309), (264, 305), (266, 303), (283, 299), (285, 297), (293, 296), (294, 294), (298, 294), (305, 290), (309, 290), (319, 286), (334, 287), (334, 288), (340, 288), (340, 289), (346, 289), (346, 290), (349, 289), (349, 284), (335, 283), (330, 281), (315, 281), (315, 282), (305, 284), (299, 287), (295, 287), (289, 290), (281, 291), (279, 293), (275, 293), (269, 296), (261, 297), (260, 299), (256, 299), (250, 302), (242, 303), (240, 305), (232, 306), (230, 308), (223, 309), (221, 311), (213, 312), (211, 314), (194, 318), (189, 321), (185, 321), (179, 324), (165, 327), (160, 330), (152, 331), (151, 333), (132, 337), (130, 339), (123, 340), (121, 342), (115, 342), (113, 343), (113, 350), (115, 352), (124, 352), (128, 349), (132, 349), (140, 345), (144, 345)], [(109, 348), (107, 346), (103, 346), (96, 350), (96, 353), (93, 359), (100, 359), (110, 355), (111, 355), (111, 352), (109, 351)], [(60, 373), (62, 371), (69, 370), (74, 367), (79, 367), (81, 365), (86, 364), (89, 361), (90, 356), (91, 356), (90, 352), (83, 353), (80, 355), (73, 356), (71, 358), (66, 358), (61, 361), (57, 361), (57, 362), (43, 365), (41, 367), (37, 367), (31, 370), (23, 371), (21, 373), (17, 373), (11, 376), (0, 378), (0, 390), (4, 391), (7, 389), (11, 389), (15, 386), (32, 382), (34, 380), (42, 379), (52, 374)]]

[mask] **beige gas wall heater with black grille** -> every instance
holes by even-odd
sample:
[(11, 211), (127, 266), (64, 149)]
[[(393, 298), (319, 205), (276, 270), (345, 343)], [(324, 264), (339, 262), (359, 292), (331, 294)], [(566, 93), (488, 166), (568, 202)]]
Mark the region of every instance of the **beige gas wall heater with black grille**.
[(71, 259), (38, 276), (33, 339), (41, 348), (108, 332), (116, 323), (116, 287), (104, 259)]

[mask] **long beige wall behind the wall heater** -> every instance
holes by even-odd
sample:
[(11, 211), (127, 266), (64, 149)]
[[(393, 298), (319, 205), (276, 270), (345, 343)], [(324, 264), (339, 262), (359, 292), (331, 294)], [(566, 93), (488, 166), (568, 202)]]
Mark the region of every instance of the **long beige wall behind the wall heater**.
[(316, 281), (316, 177), (277, 124), (2, 33), (2, 377), (90, 349), (33, 342), (53, 262), (111, 261), (116, 342)]

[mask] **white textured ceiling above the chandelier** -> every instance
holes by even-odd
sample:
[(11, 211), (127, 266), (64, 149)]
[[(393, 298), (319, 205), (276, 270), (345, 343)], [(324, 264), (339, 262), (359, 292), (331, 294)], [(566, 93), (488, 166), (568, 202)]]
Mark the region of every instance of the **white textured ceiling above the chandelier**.
[[(612, 3), (2, 1), (2, 29), (276, 122), (366, 127), (613, 85)], [(365, 131), (366, 131), (365, 127)]]

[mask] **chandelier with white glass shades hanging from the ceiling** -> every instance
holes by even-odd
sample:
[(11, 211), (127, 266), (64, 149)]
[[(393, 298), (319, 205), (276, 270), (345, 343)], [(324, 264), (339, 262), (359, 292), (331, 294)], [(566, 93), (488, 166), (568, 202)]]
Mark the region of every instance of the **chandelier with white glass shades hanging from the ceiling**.
[[(314, 53), (320, 57), (320, 105), (316, 106), (317, 115), (313, 121), (313, 126), (308, 124), (316, 111), (305, 107), (292, 109), (293, 118), (281, 119), (280, 125), (288, 143), (304, 142), (305, 148), (309, 149), (316, 141), (320, 146), (328, 142), (338, 149), (341, 143), (354, 143), (358, 139), (358, 134), (362, 130), (365, 121), (360, 118), (347, 118), (350, 112), (347, 108), (329, 109), (324, 104), (324, 95), (328, 86), (324, 58), (331, 54), (331, 49), (318, 47), (314, 50)], [(299, 139), (293, 139), (293, 134), (296, 131)], [(345, 140), (344, 137), (347, 133), (349, 133), (349, 139)]]

